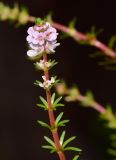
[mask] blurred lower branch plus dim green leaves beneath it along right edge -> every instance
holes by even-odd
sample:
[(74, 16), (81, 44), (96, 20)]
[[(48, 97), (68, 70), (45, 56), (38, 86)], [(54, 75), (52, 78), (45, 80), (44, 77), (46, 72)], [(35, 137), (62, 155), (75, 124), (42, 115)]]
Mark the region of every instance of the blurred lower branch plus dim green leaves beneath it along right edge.
[(112, 107), (110, 105), (104, 107), (96, 102), (91, 91), (82, 95), (77, 86), (68, 88), (65, 82), (57, 84), (56, 90), (59, 95), (65, 95), (65, 100), (67, 102), (77, 101), (81, 106), (86, 108), (90, 107), (99, 113), (100, 119), (105, 121), (105, 129), (109, 129), (111, 131), (109, 135), (111, 146), (107, 152), (113, 157), (116, 157), (116, 113), (113, 113)]

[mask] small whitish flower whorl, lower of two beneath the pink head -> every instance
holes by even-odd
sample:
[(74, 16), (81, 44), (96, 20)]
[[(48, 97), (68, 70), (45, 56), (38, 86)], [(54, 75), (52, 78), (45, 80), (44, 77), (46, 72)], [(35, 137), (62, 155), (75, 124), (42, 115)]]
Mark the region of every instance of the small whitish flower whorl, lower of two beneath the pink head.
[(46, 80), (45, 76), (42, 76), (44, 82), (43, 83), (39, 83), (39, 86), (44, 88), (44, 89), (49, 89), (51, 88), (51, 86), (55, 83), (55, 78), (51, 77), (51, 80)]

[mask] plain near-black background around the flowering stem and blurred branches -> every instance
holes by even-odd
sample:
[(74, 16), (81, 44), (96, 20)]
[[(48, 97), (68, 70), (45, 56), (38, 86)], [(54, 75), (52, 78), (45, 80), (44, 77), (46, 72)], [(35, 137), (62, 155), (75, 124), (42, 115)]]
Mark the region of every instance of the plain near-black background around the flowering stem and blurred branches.
[[(11, 5), (14, 0), (2, 1)], [(104, 28), (100, 39), (105, 43), (116, 33), (115, 0), (17, 0), (28, 6), (31, 15), (45, 16), (54, 12), (54, 19), (68, 24), (77, 18), (76, 27), (82, 32), (95, 25)], [(26, 31), (30, 25), (15, 29), (7, 22), (0, 22), (0, 159), (38, 160), (55, 159), (41, 149), (43, 135), (49, 135), (37, 123), (47, 121), (47, 113), (36, 107), (38, 96), (43, 92), (33, 82), (41, 74), (35, 72), (32, 62), (27, 60)], [(91, 89), (95, 98), (115, 110), (116, 73), (98, 66), (96, 59), (89, 58), (96, 51), (90, 46), (80, 46), (71, 38), (59, 40), (55, 59), (59, 61), (53, 71), (64, 78), (69, 86), (78, 85), (82, 93)], [(98, 113), (81, 108), (77, 103), (66, 104), (65, 117), (71, 120), (66, 128), (67, 135), (77, 135), (77, 143), (83, 149), (82, 160), (109, 160), (106, 148), (109, 141), (106, 129), (98, 121)], [(57, 158), (58, 159), (58, 158)]]

